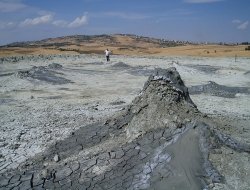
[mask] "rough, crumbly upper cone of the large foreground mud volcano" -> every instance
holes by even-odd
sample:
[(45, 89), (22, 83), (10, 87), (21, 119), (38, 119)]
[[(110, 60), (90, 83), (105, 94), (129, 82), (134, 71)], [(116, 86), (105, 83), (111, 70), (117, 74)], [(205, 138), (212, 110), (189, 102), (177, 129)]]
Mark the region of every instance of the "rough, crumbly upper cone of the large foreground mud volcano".
[(185, 128), (197, 113), (179, 73), (175, 68), (157, 69), (135, 98), (127, 115), (133, 115), (128, 135), (139, 136), (148, 130)]

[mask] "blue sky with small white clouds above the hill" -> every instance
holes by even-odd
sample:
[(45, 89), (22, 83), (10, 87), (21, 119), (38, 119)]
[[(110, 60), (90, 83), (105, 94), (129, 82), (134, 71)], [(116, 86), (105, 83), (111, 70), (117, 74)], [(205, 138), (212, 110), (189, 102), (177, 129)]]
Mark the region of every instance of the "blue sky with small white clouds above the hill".
[(0, 0), (0, 45), (118, 33), (241, 43), (249, 22), (250, 0)]

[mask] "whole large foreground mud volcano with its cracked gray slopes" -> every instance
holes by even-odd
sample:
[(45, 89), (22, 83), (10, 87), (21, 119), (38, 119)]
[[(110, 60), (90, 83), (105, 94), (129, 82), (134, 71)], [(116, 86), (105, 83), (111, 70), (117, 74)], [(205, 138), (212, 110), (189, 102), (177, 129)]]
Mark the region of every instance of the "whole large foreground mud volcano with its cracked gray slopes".
[[(209, 160), (249, 145), (217, 131), (175, 68), (157, 69), (141, 94), (105, 123), (89, 125), (0, 176), (2, 189), (209, 188), (223, 176)], [(185, 156), (183, 156), (185, 155)]]

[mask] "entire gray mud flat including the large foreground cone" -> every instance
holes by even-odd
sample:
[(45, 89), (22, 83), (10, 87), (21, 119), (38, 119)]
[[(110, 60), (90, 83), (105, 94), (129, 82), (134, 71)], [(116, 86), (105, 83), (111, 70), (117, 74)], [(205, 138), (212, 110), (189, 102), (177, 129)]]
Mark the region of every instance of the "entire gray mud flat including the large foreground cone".
[(111, 59), (1, 59), (2, 189), (250, 186), (249, 58)]

